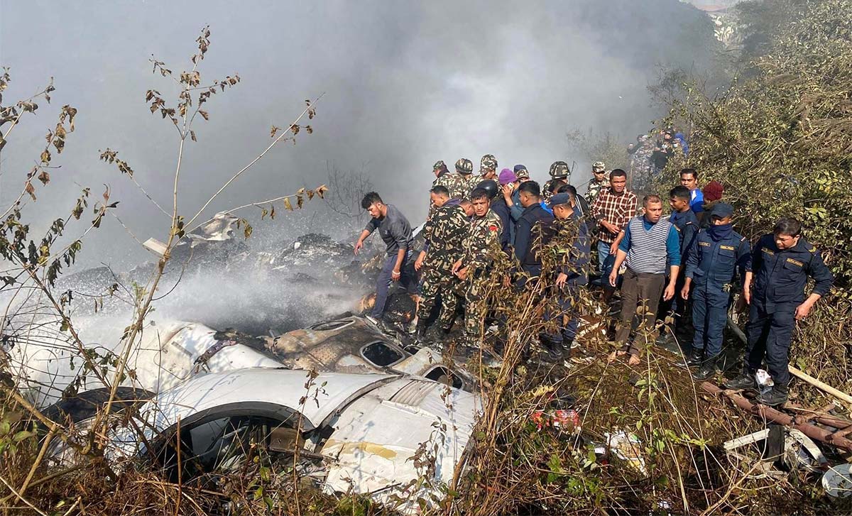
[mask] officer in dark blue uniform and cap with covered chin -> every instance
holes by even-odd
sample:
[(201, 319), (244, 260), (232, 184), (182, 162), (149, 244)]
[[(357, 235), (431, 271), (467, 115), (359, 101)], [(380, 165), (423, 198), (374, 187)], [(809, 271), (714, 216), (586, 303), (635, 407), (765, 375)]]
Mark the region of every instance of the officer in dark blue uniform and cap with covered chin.
[(714, 206), (710, 212), (711, 226), (699, 232), (687, 255), (681, 297), (688, 299), (689, 289), (693, 287), (695, 334), (687, 364), (700, 365), (693, 374), (696, 380), (705, 380), (716, 372), (734, 276), (740, 271), (743, 278), (746, 270), (751, 270), (751, 244), (734, 231), (733, 216), (734, 207), (730, 204)]

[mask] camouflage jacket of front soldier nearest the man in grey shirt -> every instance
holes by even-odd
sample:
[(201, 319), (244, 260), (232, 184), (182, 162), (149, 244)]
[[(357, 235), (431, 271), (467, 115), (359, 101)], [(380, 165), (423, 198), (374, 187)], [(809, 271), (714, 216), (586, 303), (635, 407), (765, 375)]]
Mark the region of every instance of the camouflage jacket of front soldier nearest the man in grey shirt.
[(426, 239), (427, 269), (450, 271), (453, 262), (462, 257), (464, 239), (468, 236), (470, 221), (458, 204), (444, 204), (435, 211), (423, 226)]

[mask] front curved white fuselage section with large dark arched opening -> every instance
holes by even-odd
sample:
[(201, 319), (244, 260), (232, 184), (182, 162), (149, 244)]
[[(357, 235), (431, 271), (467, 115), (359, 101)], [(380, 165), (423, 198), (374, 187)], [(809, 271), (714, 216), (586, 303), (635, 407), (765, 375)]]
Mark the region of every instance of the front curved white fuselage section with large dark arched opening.
[[(275, 471), (295, 456), (296, 471), (325, 492), (370, 496), (405, 513), (451, 483), (481, 412), (478, 396), (411, 375), (320, 373), (307, 387), (306, 379), (271, 368), (195, 376), (141, 404), (135, 428), (143, 435), (130, 424), (113, 430), (107, 460), (141, 460), (176, 480), (180, 459), (181, 479), (191, 481), (238, 470), (250, 454)], [(68, 465), (63, 446), (53, 459)], [(418, 458), (434, 473), (418, 470)]]

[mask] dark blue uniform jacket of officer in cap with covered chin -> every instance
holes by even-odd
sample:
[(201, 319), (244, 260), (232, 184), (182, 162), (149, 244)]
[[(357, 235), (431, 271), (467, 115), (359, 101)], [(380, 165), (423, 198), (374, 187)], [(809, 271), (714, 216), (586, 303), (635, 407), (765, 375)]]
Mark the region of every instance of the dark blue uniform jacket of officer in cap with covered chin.
[(751, 270), (751, 244), (746, 237), (731, 232), (715, 242), (702, 229), (687, 254), (686, 277), (693, 279), (695, 288), (722, 290), (734, 281), (738, 270), (740, 274)]

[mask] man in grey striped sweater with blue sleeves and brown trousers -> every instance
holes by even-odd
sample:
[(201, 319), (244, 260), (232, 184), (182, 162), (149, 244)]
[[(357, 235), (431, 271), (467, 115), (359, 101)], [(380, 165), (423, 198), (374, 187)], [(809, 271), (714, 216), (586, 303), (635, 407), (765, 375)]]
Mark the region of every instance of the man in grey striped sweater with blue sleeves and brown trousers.
[[(642, 349), (637, 344), (653, 342), (654, 322), (660, 295), (665, 301), (675, 295), (677, 272), (681, 265), (680, 238), (677, 228), (670, 221), (660, 221), (663, 201), (658, 195), (647, 195), (642, 199), (645, 214), (630, 219), (622, 234), (619, 234), (619, 249), (615, 257), (609, 284), (616, 284), (619, 268), (627, 264), (624, 284), (621, 286), (621, 317), (615, 341), (619, 349), (610, 355), (614, 359), (630, 353), (630, 365), (639, 364)], [(669, 282), (665, 284), (666, 263), (671, 268)], [(628, 345), (630, 326), (636, 313), (641, 323), (634, 341)]]

